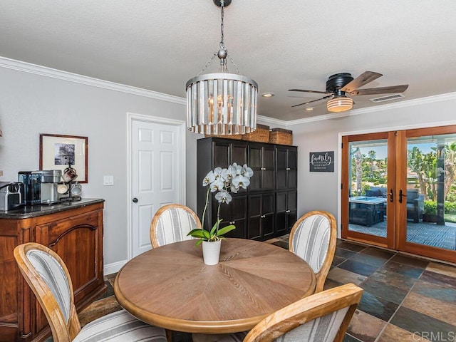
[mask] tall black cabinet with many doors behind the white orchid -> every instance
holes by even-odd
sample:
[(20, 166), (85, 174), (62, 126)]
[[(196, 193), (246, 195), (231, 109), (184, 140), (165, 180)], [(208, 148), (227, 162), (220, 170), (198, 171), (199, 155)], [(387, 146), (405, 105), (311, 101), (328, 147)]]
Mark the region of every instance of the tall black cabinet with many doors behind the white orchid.
[[(297, 147), (262, 142), (203, 138), (197, 140), (197, 214), (201, 217), (207, 187), (202, 180), (215, 167), (236, 162), (254, 171), (247, 190), (232, 194), (232, 202), (220, 206), (221, 226), (234, 224), (227, 237), (264, 241), (289, 232), (297, 213)], [(209, 194), (208, 229), (217, 220), (218, 202)]]

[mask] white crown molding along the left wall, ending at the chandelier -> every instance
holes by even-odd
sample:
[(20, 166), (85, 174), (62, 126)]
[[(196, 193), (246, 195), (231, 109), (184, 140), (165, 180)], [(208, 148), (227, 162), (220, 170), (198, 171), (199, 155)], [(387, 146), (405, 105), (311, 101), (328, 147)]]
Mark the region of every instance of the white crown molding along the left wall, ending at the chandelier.
[(98, 78), (91, 78), (88, 76), (78, 75), (76, 73), (68, 73), (67, 71), (47, 68), (46, 66), (37, 66), (36, 64), (26, 63), (23, 61), (16, 61), (14, 59), (5, 57), (0, 57), (0, 67), (9, 68), (16, 71), (22, 71), (24, 73), (33, 73), (35, 75), (57, 78), (62, 81), (80, 83), (86, 86), (93, 86), (97, 88), (119, 91), (121, 93), (127, 93), (131, 95), (144, 96), (146, 98), (154, 98), (155, 100), (163, 100), (167, 102), (178, 103), (180, 105), (185, 105), (186, 103), (185, 98), (180, 98), (178, 96), (158, 93), (156, 91), (136, 88), (133, 86), (125, 86), (120, 83), (104, 81)]

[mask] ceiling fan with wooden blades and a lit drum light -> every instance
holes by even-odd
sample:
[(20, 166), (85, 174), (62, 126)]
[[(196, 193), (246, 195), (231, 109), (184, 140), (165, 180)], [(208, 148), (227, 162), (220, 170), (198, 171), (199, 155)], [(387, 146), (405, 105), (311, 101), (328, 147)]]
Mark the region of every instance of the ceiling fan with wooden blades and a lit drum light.
[[(290, 91), (301, 91), (303, 93), (317, 93), (325, 94), (323, 98), (316, 100), (299, 103), (299, 105), (307, 105), (309, 103), (325, 100), (329, 98), (326, 107), (330, 112), (344, 112), (351, 110), (353, 107), (353, 100), (348, 95), (376, 95), (376, 94), (390, 94), (390, 93), (403, 93), (408, 88), (408, 84), (401, 86), (378, 87), (358, 89), (369, 82), (372, 82), (383, 76), (381, 73), (373, 71), (365, 71), (357, 78), (353, 78), (350, 73), (336, 73), (329, 76), (326, 81), (326, 91), (318, 90), (304, 90), (304, 89), (289, 89)], [(291, 107), (298, 107), (299, 105), (292, 105)]]

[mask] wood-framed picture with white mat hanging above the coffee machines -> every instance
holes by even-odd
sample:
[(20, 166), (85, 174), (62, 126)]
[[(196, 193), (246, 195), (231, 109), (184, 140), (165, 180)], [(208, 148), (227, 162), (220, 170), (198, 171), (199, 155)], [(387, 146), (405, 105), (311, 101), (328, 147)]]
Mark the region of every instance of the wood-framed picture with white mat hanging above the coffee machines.
[(39, 170), (76, 170), (76, 182), (88, 182), (88, 138), (76, 135), (40, 134)]

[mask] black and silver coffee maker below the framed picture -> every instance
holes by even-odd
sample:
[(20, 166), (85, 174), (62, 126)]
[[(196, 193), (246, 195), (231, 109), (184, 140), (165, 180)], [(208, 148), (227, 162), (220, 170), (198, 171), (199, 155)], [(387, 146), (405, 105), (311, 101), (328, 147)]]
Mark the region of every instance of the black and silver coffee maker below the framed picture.
[(61, 178), (61, 170), (20, 171), (18, 181), (24, 184), (22, 202), (26, 205), (57, 203), (57, 185)]

